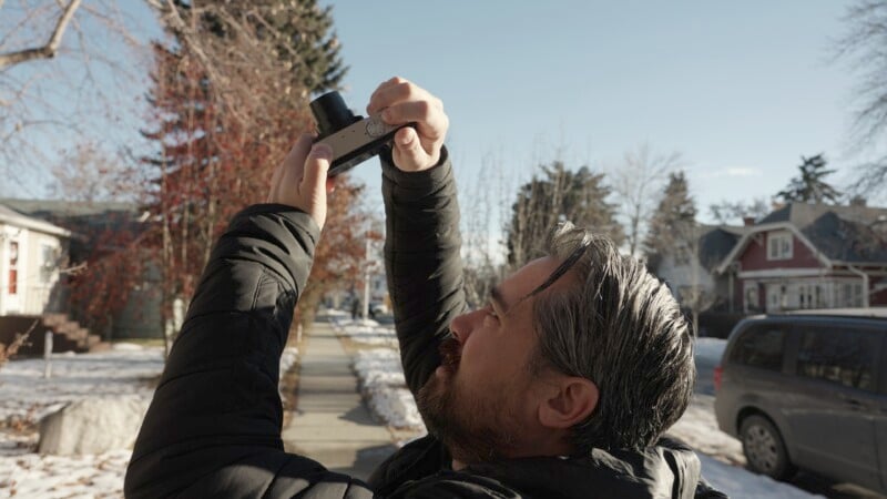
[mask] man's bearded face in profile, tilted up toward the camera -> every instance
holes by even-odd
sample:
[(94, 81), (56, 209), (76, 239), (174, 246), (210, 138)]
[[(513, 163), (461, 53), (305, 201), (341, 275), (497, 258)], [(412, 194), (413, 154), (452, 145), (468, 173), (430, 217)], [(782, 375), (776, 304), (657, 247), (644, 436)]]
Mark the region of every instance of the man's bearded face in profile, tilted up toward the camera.
[(529, 373), (536, 349), (532, 304), (526, 298), (557, 268), (540, 258), (495, 288), (487, 306), (452, 320), (441, 366), (418, 395), (430, 430), (455, 459), (477, 462), (524, 454), (540, 429), (540, 378)]

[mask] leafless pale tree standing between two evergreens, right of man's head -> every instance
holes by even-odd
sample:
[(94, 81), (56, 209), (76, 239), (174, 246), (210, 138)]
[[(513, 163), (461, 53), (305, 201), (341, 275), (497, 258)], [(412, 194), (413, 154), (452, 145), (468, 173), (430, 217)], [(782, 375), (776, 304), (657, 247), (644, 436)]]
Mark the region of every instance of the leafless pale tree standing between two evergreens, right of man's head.
[(636, 256), (646, 233), (646, 221), (656, 205), (655, 192), (665, 176), (683, 165), (681, 153), (657, 154), (650, 144), (628, 151), (610, 177), (613, 194), (625, 217), (625, 243)]

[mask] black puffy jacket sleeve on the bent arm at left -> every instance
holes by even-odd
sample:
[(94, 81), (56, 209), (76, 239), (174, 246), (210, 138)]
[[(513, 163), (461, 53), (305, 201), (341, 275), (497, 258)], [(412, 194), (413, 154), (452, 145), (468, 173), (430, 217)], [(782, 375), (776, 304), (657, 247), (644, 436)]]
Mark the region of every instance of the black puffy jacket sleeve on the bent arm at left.
[(142, 424), (126, 497), (371, 497), (281, 440), (279, 359), (318, 235), (310, 216), (283, 205), (233, 218)]

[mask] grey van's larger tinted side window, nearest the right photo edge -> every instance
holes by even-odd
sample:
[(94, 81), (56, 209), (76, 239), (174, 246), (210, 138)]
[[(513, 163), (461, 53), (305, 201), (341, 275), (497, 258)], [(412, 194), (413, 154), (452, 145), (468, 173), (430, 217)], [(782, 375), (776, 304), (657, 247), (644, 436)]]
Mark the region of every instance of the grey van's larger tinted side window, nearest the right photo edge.
[(803, 326), (797, 374), (850, 388), (875, 390), (879, 336), (847, 327)]

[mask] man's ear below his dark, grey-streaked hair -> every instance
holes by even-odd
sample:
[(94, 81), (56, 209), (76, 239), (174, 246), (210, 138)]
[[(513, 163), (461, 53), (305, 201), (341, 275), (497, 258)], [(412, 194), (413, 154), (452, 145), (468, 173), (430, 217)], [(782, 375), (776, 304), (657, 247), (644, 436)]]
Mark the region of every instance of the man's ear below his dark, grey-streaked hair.
[(598, 407), (598, 385), (590, 379), (564, 376), (559, 389), (539, 406), (539, 421), (549, 428), (570, 428), (589, 417)]

